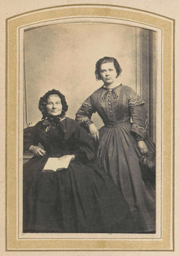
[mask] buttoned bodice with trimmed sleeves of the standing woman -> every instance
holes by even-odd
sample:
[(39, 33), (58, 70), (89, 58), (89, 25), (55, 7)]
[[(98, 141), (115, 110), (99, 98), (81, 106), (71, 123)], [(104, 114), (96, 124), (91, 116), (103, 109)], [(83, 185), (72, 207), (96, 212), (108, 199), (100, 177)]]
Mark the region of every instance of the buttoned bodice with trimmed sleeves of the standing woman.
[(102, 86), (90, 95), (76, 113), (76, 120), (85, 127), (89, 126), (91, 116), (97, 112), (104, 125), (115, 125), (132, 117), (132, 132), (145, 137), (148, 120), (144, 101), (129, 86), (120, 84), (113, 89)]

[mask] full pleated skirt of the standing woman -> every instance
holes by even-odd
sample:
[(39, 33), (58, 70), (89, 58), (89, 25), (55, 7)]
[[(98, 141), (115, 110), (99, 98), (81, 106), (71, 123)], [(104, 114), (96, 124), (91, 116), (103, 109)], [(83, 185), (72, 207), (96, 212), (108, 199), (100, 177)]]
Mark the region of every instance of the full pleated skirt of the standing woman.
[[(142, 177), (141, 153), (131, 126), (130, 123), (120, 123), (113, 127), (101, 127), (99, 165), (110, 175), (128, 202), (135, 221), (135, 232), (152, 232), (156, 230), (155, 179), (150, 170), (147, 179)], [(155, 153), (154, 142), (149, 137), (145, 143), (149, 151)]]

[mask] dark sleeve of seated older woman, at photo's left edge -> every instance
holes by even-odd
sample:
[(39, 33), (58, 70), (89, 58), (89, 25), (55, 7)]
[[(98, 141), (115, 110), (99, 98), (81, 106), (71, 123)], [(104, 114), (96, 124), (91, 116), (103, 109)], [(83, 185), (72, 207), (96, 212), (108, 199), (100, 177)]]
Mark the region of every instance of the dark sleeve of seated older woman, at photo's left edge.
[(23, 130), (23, 151), (29, 151), (29, 148), (31, 145), (37, 146), (37, 131), (38, 126), (37, 124), (35, 126), (27, 127)]

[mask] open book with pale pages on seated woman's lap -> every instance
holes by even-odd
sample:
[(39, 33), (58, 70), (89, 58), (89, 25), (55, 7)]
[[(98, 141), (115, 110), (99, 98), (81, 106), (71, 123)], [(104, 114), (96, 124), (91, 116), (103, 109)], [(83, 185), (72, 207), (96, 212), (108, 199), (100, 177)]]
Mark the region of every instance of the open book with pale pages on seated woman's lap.
[(62, 169), (67, 169), (71, 161), (71, 158), (71, 155), (62, 156), (60, 158), (49, 157), (42, 171), (53, 170), (56, 172)]

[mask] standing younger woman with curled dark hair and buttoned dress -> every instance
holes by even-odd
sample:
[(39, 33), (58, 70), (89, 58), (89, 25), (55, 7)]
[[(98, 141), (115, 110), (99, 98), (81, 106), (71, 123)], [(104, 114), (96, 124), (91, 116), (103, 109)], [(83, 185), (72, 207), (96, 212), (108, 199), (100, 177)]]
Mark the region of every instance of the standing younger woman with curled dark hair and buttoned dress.
[[(150, 179), (144, 182), (139, 161), (143, 154), (155, 153), (155, 145), (147, 135), (145, 102), (131, 87), (118, 82), (120, 74), (121, 68), (115, 58), (104, 57), (96, 62), (96, 80), (104, 84), (84, 101), (76, 113), (76, 120), (99, 142), (100, 167), (119, 186), (128, 202), (135, 232), (154, 233), (155, 185)], [(104, 123), (99, 131), (91, 121), (96, 111)]]

